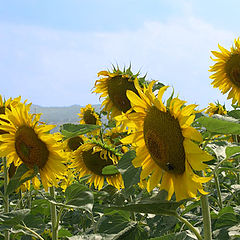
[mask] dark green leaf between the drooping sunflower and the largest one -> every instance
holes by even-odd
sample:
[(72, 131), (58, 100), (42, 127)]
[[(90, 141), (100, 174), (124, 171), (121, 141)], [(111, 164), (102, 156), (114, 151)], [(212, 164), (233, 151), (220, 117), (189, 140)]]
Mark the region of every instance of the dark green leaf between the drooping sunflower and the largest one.
[(118, 163), (118, 170), (122, 174), (125, 188), (130, 188), (139, 183), (141, 168), (135, 168), (132, 160), (136, 157), (134, 150), (125, 153)]

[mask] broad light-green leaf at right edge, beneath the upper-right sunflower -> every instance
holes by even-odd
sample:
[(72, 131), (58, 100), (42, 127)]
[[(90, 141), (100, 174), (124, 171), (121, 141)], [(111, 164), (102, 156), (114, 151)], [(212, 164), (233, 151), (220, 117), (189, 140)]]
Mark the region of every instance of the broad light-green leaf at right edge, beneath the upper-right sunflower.
[(240, 134), (239, 122), (230, 117), (215, 115), (215, 117), (200, 117), (196, 121), (211, 133)]

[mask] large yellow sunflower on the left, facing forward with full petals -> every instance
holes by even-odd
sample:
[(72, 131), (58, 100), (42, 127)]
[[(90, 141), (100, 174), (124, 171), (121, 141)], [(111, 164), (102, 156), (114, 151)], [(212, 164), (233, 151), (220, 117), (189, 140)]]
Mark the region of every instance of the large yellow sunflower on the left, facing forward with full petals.
[(30, 106), (18, 103), (14, 108), (5, 109), (1, 116), (0, 129), (7, 133), (0, 136), (0, 156), (7, 157), (7, 165), (16, 167), (24, 163), (30, 171), (39, 169), (42, 184), (47, 191), (57, 186), (58, 179), (65, 173), (62, 147), (48, 132), (54, 125), (40, 124), (40, 114), (30, 114)]

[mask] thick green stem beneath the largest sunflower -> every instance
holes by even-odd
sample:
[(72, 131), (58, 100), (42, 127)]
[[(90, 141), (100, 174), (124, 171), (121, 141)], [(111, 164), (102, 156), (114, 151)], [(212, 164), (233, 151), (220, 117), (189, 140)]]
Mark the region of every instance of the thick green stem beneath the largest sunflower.
[(208, 196), (201, 196), (202, 216), (203, 216), (203, 232), (204, 240), (212, 240), (211, 216), (208, 203)]

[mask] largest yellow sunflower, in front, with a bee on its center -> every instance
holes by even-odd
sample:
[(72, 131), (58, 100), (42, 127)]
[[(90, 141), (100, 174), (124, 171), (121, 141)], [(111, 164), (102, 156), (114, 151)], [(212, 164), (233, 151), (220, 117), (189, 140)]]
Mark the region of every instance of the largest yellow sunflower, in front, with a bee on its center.
[(165, 106), (162, 96), (168, 86), (160, 88), (155, 97), (153, 84), (154, 81), (141, 89), (135, 81), (140, 97), (127, 91), (135, 112), (116, 120), (135, 126), (136, 131), (122, 139), (122, 143), (134, 143), (136, 158), (132, 163), (142, 167), (140, 179), (147, 180), (149, 192), (160, 184), (160, 189), (168, 192), (169, 200), (174, 192), (177, 201), (194, 198), (197, 191), (206, 194), (202, 183), (211, 178), (199, 177), (193, 171), (205, 169), (207, 165), (203, 162), (212, 159), (195, 143), (202, 141), (201, 134), (191, 127), (197, 105), (184, 106), (185, 101), (169, 98)]

